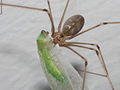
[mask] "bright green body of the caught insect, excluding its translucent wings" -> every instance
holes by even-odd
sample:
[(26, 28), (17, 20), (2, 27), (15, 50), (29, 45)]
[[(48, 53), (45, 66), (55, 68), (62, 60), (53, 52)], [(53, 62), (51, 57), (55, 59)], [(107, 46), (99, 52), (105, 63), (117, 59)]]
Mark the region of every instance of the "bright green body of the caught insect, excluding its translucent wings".
[(63, 72), (55, 64), (54, 58), (52, 57), (52, 53), (51, 53), (51, 49), (53, 48), (50, 45), (51, 43), (48, 38), (48, 33), (45, 31), (42, 31), (40, 36), (37, 39), (38, 53), (43, 62), (42, 65), (44, 65), (48, 74), (51, 74), (59, 82), (64, 83), (66, 82), (66, 77), (64, 76)]

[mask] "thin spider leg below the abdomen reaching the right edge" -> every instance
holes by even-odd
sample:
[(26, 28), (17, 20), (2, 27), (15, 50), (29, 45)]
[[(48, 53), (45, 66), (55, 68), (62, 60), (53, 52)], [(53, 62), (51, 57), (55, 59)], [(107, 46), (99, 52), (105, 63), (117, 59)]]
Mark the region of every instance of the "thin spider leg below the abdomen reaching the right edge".
[(76, 36), (79, 36), (79, 35), (81, 35), (81, 34), (83, 34), (83, 33), (88, 32), (88, 31), (94, 30), (94, 29), (97, 28), (97, 27), (104, 26), (104, 25), (109, 25), (109, 24), (120, 24), (120, 22), (102, 22), (102, 23), (97, 24), (97, 25), (95, 25), (95, 26), (93, 26), (93, 27), (90, 27), (90, 28), (88, 28), (88, 29), (86, 29), (86, 30), (83, 30), (82, 32), (80, 32), (80, 33), (78, 33), (78, 34), (76, 34), (76, 35), (74, 35), (74, 36), (71, 36), (69, 39), (72, 39), (72, 38), (74, 38), (74, 37), (76, 37)]

